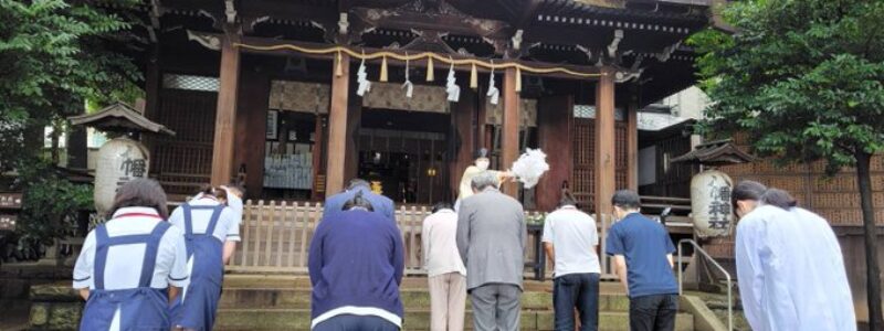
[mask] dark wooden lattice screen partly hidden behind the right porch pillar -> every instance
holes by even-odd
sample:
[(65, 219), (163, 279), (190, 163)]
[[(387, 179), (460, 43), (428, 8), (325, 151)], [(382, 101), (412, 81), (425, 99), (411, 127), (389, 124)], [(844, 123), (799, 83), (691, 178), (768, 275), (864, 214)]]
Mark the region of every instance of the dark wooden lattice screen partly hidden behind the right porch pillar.
[[(615, 185), (617, 189), (627, 186), (627, 125), (618, 121), (615, 125)], [(571, 192), (579, 200), (582, 209), (594, 210), (596, 191), (596, 120), (590, 118), (575, 118), (573, 130), (573, 173), (571, 175)]]

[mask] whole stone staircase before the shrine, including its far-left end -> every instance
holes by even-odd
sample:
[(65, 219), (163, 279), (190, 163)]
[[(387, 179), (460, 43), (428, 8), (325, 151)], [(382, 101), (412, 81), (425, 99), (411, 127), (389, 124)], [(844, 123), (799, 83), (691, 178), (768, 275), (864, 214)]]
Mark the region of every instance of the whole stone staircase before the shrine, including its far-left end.
[[(602, 281), (599, 330), (629, 329), (629, 300), (618, 282)], [(552, 330), (552, 281), (526, 281), (522, 296), (522, 330)], [(406, 307), (403, 330), (430, 329), (427, 278), (408, 277), (400, 287)], [(76, 330), (83, 300), (70, 281), (30, 287), (29, 330)], [(681, 298), (675, 330), (726, 330), (696, 297)], [(473, 327), (466, 308), (466, 330)], [(309, 330), (311, 282), (305, 276), (227, 275), (215, 330)]]

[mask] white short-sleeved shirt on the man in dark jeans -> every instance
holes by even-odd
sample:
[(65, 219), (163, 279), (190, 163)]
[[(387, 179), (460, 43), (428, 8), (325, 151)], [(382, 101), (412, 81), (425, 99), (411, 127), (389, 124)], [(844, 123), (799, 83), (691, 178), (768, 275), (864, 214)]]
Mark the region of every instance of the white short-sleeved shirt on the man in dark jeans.
[(572, 205), (549, 213), (544, 222), (544, 243), (555, 249), (556, 277), (569, 274), (600, 274), (599, 234), (596, 220)]

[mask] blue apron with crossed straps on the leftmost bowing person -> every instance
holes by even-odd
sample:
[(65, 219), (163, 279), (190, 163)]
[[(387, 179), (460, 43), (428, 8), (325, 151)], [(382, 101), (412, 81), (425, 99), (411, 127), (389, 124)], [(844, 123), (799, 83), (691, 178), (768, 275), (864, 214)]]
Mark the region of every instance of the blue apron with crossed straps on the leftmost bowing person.
[[(150, 234), (109, 237), (107, 227), (95, 228), (95, 289), (83, 311), (80, 330), (109, 330), (114, 313), (119, 309), (119, 330), (169, 330), (169, 300), (166, 289), (150, 287), (157, 264), (160, 238), (171, 225), (160, 222)], [(145, 244), (141, 278), (137, 288), (107, 290), (104, 288), (104, 269), (110, 246)]]

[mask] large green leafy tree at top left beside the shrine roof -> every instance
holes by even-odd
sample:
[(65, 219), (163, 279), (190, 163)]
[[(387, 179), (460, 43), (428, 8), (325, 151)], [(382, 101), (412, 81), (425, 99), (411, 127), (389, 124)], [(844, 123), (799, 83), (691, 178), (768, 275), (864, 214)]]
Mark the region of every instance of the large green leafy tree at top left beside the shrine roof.
[(42, 146), (42, 128), (83, 113), (86, 99), (137, 89), (138, 67), (122, 52), (137, 3), (0, 0), (0, 169), (35, 156), (24, 146)]

